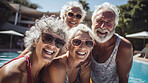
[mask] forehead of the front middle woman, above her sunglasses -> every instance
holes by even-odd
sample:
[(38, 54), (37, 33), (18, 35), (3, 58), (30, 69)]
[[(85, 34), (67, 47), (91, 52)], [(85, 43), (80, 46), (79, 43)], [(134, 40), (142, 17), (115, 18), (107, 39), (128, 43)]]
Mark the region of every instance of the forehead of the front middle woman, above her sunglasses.
[(85, 39), (85, 40), (91, 40), (91, 37), (89, 36), (88, 32), (84, 31), (78, 31), (74, 38), (79, 38), (79, 39)]

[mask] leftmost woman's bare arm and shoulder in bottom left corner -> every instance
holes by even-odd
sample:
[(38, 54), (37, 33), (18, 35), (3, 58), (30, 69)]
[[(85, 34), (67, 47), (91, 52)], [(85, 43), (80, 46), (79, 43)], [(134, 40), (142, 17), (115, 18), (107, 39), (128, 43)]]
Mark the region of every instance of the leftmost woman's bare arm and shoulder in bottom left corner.
[(24, 67), (25, 59), (14, 60), (0, 69), (0, 83), (23, 83), (27, 82), (25, 78)]

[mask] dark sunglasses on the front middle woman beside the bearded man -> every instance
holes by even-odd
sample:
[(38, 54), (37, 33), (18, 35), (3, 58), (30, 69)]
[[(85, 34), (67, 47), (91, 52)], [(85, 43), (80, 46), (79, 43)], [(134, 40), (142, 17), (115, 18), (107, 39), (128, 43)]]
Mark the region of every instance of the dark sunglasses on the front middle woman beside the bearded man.
[[(82, 43), (82, 41), (81, 41), (80, 39), (73, 39), (73, 40), (72, 40), (72, 45), (74, 45), (74, 46), (79, 46), (79, 45), (81, 45), (81, 43)], [(86, 40), (86, 41), (85, 41), (85, 45), (86, 45), (87, 47), (91, 48), (91, 47), (94, 46), (94, 42), (93, 42), (93, 41), (88, 41), (88, 40)]]

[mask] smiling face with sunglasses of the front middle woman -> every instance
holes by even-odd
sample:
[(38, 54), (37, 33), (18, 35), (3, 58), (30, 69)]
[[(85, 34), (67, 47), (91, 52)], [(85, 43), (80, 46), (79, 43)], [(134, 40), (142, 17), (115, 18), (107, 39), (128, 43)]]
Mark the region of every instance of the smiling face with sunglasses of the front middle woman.
[(93, 48), (93, 41), (87, 32), (78, 31), (70, 42), (70, 55), (76, 60), (84, 61)]

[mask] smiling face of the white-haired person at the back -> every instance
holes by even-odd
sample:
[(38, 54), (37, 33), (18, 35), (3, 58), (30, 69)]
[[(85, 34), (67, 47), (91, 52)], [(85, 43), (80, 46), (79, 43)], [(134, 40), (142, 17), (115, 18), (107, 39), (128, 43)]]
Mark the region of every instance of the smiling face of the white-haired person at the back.
[[(68, 13), (73, 13), (74, 15), (70, 15)], [(71, 8), (67, 13), (66, 13), (66, 24), (69, 26), (69, 28), (73, 28), (73, 27), (76, 27), (78, 24), (80, 24), (80, 21), (81, 21), (81, 18), (80, 16), (81, 15), (81, 18), (82, 18), (82, 12), (80, 10), (80, 8), (77, 8), (77, 7), (73, 7)]]

